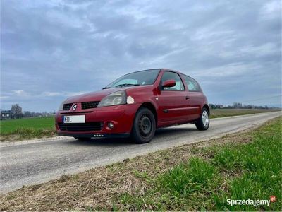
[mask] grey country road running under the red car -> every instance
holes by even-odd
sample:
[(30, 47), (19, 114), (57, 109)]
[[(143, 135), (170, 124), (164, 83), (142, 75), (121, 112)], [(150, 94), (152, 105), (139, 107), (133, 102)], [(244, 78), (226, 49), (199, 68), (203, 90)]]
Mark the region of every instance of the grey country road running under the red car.
[(47, 182), (136, 155), (242, 131), (279, 115), (281, 112), (267, 112), (212, 119), (207, 131), (197, 131), (194, 124), (159, 129), (151, 143), (142, 145), (124, 140), (78, 141), (68, 137), (0, 143), (0, 192), (4, 194), (23, 185)]

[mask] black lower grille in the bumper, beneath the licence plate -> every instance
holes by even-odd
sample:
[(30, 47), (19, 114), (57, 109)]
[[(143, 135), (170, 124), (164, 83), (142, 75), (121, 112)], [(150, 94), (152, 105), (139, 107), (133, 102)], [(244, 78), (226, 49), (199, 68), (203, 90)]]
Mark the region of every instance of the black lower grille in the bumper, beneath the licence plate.
[(103, 129), (103, 122), (87, 122), (87, 123), (58, 123), (61, 131), (99, 131)]

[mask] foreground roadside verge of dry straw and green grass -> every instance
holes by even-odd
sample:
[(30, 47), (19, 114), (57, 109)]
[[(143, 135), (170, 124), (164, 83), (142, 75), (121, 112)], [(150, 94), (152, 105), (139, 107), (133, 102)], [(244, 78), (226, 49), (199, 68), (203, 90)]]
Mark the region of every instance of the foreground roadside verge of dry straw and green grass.
[(23, 187), (0, 196), (0, 211), (281, 211), (281, 123)]

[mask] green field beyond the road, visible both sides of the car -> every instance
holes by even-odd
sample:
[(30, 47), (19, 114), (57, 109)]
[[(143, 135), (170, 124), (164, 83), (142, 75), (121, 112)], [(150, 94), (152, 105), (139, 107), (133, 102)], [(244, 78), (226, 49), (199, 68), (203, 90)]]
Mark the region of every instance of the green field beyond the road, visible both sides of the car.
[[(211, 110), (211, 118), (228, 117), (274, 110), (216, 109)], [(0, 122), (0, 141), (20, 141), (54, 136), (54, 117), (11, 119)]]

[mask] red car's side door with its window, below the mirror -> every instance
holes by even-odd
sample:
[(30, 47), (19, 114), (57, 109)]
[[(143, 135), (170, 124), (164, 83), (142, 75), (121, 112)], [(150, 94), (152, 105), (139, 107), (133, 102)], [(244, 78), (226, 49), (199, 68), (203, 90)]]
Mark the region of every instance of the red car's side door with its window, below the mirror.
[[(164, 81), (174, 80), (176, 85), (171, 88), (163, 88)], [(188, 92), (185, 90), (183, 81), (178, 73), (165, 71), (161, 76), (159, 85), (160, 95), (157, 100), (159, 106), (159, 122), (163, 124), (173, 124), (187, 119), (188, 115)]]

